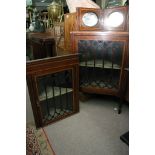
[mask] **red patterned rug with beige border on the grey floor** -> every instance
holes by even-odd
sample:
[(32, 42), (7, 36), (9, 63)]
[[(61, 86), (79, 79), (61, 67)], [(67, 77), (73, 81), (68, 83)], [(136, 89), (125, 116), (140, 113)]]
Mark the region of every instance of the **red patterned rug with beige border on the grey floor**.
[(55, 155), (44, 130), (33, 124), (26, 127), (26, 155)]

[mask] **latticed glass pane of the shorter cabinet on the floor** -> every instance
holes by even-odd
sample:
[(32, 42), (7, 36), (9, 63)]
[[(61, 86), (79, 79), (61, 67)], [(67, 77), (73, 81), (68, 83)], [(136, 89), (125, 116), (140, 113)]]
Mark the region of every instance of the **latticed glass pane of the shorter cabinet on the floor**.
[(38, 77), (37, 83), (44, 123), (73, 112), (72, 70)]

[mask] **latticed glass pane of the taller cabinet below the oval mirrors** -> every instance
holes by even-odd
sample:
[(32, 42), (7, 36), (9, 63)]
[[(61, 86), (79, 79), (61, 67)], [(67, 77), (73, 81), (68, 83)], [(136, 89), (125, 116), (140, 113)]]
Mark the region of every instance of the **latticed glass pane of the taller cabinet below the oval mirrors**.
[(123, 48), (120, 41), (80, 40), (80, 85), (117, 89)]

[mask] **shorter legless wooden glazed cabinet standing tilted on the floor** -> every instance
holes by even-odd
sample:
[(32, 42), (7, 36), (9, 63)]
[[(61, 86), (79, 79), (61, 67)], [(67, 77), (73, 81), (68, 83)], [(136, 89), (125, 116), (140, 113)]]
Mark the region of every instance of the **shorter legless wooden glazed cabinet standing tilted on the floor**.
[(78, 55), (29, 61), (27, 84), (36, 127), (79, 111)]

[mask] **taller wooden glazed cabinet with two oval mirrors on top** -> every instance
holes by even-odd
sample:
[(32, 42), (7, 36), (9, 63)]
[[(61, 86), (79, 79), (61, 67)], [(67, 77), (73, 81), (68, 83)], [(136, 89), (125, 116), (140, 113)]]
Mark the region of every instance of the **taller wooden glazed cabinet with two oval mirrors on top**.
[(79, 53), (80, 91), (125, 98), (128, 79), (128, 7), (77, 8), (78, 31), (71, 32), (72, 53)]

